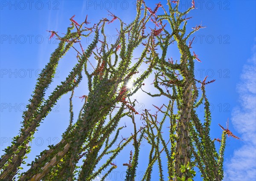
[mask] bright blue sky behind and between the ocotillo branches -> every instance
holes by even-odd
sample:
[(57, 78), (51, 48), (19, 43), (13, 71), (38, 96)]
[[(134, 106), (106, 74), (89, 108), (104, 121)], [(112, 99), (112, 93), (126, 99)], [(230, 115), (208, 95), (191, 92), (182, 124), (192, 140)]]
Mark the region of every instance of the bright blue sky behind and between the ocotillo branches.
[[(37, 75), (57, 46), (57, 41), (48, 40), (50, 33), (46, 30), (66, 32), (66, 28), (70, 25), (69, 19), (74, 14), (77, 22), (82, 22), (88, 14), (88, 20), (96, 23), (102, 17), (108, 17), (107, 10), (129, 23), (135, 16), (135, 2), (134, 0), (56, 0), (30, 1), (30, 3), (0, 1), (0, 155), (3, 154), (2, 149), (9, 146), (11, 138), (17, 135), (22, 121), (21, 115), (32, 94)], [(154, 4), (159, 1), (145, 0), (145, 3), (153, 9)], [(166, 4), (166, 1), (161, 3)], [(189, 29), (200, 24), (207, 27), (194, 34), (196, 41), (192, 45), (192, 51), (195, 51), (202, 61), (202, 63), (195, 62), (195, 73), (201, 80), (207, 75), (208, 80), (216, 79), (207, 86), (207, 95), (212, 106), (211, 137), (220, 138), (221, 129), (218, 123), (225, 126), (229, 118), (229, 129), (242, 139), (227, 139), (224, 180), (254, 181), (256, 180), (256, 1), (195, 0), (195, 3), (197, 9), (189, 13), (193, 18), (189, 20), (187, 27)], [(181, 0), (181, 10), (189, 6), (191, 6), (190, 0)], [(113, 23), (112, 27), (114, 26), (119, 28), (118, 23)], [(109, 29), (107, 33), (112, 37), (113, 29)], [(110, 41), (113, 42), (113, 37)], [(178, 57), (178, 52), (172, 51), (168, 55)], [(49, 90), (68, 75), (71, 66), (76, 63), (75, 56), (74, 52), (70, 53), (61, 61), (57, 71), (58, 77), (54, 78)], [(150, 78), (146, 80), (148, 85), (151, 82)], [(150, 86), (146, 89), (154, 91)], [(75, 92), (75, 96), (85, 94), (86, 90), (84, 92), (79, 89)], [(140, 93), (135, 97), (139, 102), (137, 109), (145, 109), (151, 107), (152, 103), (159, 102)], [(66, 106), (68, 98), (69, 95), (64, 95), (53, 112), (41, 124), (35, 134), (35, 141), (32, 142), (34, 151), (29, 154), (30, 161), (41, 150), (46, 149), (47, 145), (55, 144), (61, 139), (61, 134), (69, 120), (68, 106)], [(166, 101), (163, 98), (160, 100)], [(77, 98), (75, 102), (75, 109), (79, 110), (81, 100)], [(202, 111), (201, 113), (203, 114)], [(128, 123), (127, 125), (129, 126)], [(123, 135), (129, 134), (128, 128)], [(218, 147), (218, 144), (216, 145)], [(122, 180), (122, 172), (125, 171), (122, 164), (128, 162), (130, 149), (128, 147), (124, 150), (125, 157), (116, 158), (118, 172), (112, 174), (109, 180)], [(147, 149), (146, 146), (143, 147), (144, 149)], [(148, 157), (142, 156), (141, 159), (147, 161)], [(146, 166), (145, 161), (138, 167), (137, 180), (140, 180), (139, 177)], [(152, 179), (157, 181), (157, 175), (156, 173)], [(196, 180), (200, 180), (200, 175), (197, 175)]]

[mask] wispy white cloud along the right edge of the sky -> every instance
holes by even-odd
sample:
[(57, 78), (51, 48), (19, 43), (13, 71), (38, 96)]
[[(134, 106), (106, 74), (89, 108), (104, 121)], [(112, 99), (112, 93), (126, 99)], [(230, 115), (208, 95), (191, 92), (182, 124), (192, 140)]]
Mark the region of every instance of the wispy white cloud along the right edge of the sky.
[(232, 123), (243, 139), (225, 164), (230, 181), (256, 181), (256, 46), (247, 60), (237, 86), (240, 105), (232, 112)]

